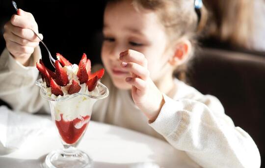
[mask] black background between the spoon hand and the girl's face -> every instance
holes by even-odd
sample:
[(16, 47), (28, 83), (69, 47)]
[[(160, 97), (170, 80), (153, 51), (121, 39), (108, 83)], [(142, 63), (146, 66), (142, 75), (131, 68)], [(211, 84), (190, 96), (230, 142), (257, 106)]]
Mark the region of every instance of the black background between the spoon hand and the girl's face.
[[(33, 14), (52, 56), (60, 53), (78, 63), (83, 53), (100, 62), (104, 0), (15, 0), (18, 8)], [(88, 3), (89, 2), (89, 3)], [(3, 25), (16, 13), (11, 0), (0, 0), (0, 51), (5, 47)], [(40, 44), (44, 62), (49, 57)]]

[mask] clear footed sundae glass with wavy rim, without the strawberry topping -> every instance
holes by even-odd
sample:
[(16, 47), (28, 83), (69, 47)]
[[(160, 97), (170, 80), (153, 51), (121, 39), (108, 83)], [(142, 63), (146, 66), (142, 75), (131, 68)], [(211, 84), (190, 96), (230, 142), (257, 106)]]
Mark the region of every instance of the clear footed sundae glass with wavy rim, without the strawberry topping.
[(77, 149), (90, 121), (93, 105), (108, 96), (107, 87), (97, 82), (91, 92), (79, 91), (66, 96), (51, 96), (46, 84), (40, 79), (40, 95), (50, 104), (53, 122), (59, 133), (63, 148), (46, 157), (49, 168), (91, 168), (93, 162), (87, 154)]

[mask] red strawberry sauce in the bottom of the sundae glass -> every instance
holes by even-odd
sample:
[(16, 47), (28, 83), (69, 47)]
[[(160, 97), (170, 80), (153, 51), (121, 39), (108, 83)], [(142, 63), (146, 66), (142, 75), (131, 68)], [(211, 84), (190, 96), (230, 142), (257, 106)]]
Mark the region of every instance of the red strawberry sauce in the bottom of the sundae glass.
[(79, 140), (80, 136), (86, 129), (86, 126), (89, 123), (90, 116), (82, 116), (82, 119), (80, 118), (75, 118), (72, 121), (65, 121), (63, 119), (63, 114), (61, 115), (61, 120), (56, 121), (55, 124), (58, 128), (58, 131), (62, 137), (62, 139), (68, 143), (68, 144), (73, 144), (77, 140)]

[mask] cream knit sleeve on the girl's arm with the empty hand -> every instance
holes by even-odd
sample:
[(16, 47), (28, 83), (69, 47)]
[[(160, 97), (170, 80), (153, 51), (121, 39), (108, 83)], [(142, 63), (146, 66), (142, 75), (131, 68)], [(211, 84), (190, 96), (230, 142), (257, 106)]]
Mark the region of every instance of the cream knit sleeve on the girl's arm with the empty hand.
[(150, 126), (175, 148), (204, 168), (260, 168), (257, 145), (235, 127), (217, 98), (208, 95), (195, 101), (163, 96), (165, 104)]

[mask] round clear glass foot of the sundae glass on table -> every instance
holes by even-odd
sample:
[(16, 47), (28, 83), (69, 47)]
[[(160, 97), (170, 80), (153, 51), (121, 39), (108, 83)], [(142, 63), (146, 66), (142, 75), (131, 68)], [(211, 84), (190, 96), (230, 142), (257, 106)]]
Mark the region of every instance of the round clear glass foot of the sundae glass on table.
[(53, 151), (46, 156), (45, 163), (47, 168), (93, 168), (92, 159), (76, 148)]

